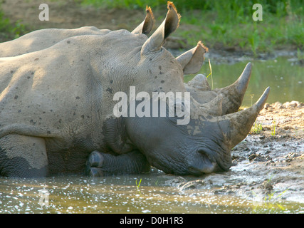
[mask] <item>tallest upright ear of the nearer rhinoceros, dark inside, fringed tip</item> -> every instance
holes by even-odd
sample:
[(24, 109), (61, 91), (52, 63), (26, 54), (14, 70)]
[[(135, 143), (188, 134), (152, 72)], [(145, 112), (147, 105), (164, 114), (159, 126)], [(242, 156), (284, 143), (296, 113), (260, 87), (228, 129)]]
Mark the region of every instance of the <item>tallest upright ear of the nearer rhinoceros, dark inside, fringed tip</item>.
[(173, 33), (179, 26), (180, 15), (177, 13), (177, 9), (171, 1), (168, 1), (167, 16), (162, 24), (156, 31), (145, 41), (142, 46), (142, 55), (146, 55), (151, 52), (159, 51), (164, 43), (165, 39)]

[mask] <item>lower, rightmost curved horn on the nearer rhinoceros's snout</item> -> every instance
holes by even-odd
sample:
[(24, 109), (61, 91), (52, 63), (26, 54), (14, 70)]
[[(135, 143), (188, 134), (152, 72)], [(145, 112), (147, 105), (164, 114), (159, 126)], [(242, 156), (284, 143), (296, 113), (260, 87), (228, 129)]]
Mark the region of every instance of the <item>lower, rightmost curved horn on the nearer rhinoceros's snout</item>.
[(266, 88), (261, 98), (251, 108), (219, 117), (219, 125), (226, 136), (226, 142), (229, 142), (230, 148), (246, 138), (254, 121), (256, 121), (258, 113), (260, 113), (266, 103), (269, 91), (270, 88)]

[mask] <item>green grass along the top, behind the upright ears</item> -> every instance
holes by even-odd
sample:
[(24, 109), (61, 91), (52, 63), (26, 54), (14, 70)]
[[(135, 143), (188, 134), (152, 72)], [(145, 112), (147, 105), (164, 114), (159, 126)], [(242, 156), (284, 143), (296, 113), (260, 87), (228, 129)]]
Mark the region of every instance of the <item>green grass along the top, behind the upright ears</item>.
[[(79, 0), (80, 1), (80, 0)], [(166, 0), (83, 0), (83, 5), (103, 8), (145, 9), (151, 6), (158, 20)], [(304, 47), (303, 0), (175, 0), (182, 14), (180, 28), (174, 36), (187, 38), (190, 46), (203, 41), (211, 48), (270, 52), (278, 48)], [(253, 4), (263, 6), (263, 21), (253, 21)], [(187, 26), (191, 24), (191, 26)]]

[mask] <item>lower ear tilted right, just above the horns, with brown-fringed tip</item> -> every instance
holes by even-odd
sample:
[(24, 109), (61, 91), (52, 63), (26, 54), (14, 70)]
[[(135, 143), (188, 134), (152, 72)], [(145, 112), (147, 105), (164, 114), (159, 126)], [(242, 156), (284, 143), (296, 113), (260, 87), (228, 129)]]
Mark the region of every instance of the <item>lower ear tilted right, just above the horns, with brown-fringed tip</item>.
[(177, 57), (177, 61), (182, 65), (184, 74), (197, 73), (204, 63), (204, 54), (208, 52), (208, 48), (201, 41), (182, 55)]

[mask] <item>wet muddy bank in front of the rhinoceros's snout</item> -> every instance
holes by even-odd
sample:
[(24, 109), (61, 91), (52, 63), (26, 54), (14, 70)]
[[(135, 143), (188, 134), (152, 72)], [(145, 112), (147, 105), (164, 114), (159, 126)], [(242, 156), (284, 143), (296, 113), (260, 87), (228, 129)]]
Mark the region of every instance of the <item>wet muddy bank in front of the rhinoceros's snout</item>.
[[(181, 191), (206, 190), (261, 202), (285, 199), (304, 203), (304, 104), (266, 104), (256, 120), (261, 129), (231, 150), (228, 172), (196, 180), (168, 177)], [(265, 198), (266, 197), (266, 198)]]

